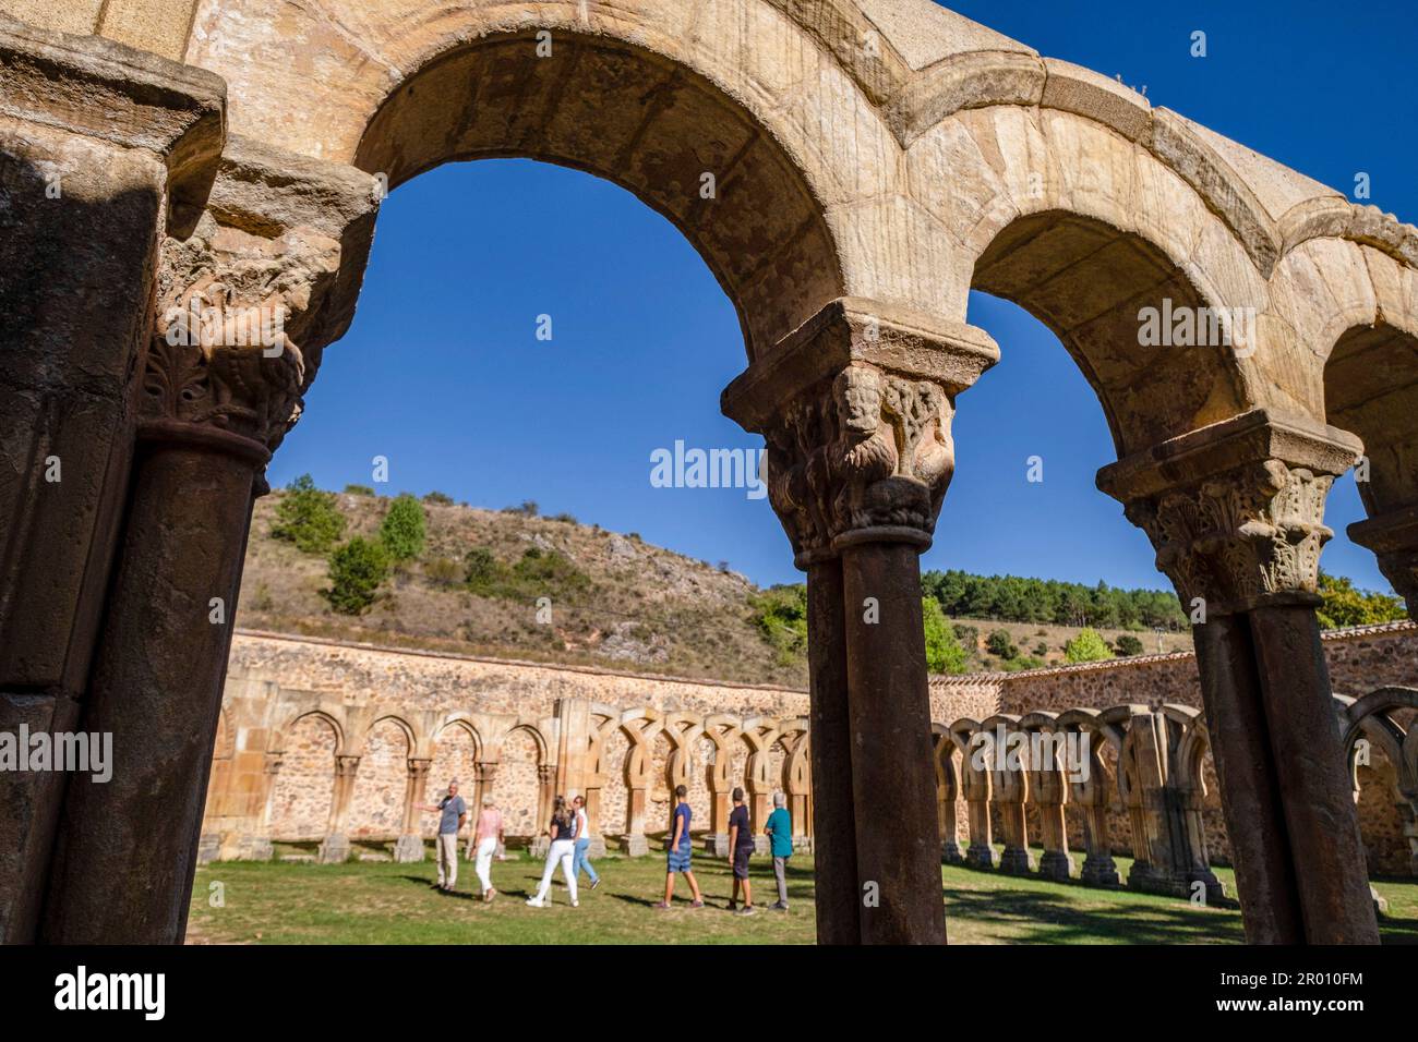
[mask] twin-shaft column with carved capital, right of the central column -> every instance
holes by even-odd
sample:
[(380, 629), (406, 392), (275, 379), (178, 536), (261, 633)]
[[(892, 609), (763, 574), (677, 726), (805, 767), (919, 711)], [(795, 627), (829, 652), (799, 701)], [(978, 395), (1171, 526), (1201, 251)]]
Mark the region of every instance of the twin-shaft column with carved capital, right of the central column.
[(1252, 943), (1378, 940), (1314, 621), (1324, 498), (1358, 454), (1333, 427), (1254, 410), (1099, 474), (1194, 615)]

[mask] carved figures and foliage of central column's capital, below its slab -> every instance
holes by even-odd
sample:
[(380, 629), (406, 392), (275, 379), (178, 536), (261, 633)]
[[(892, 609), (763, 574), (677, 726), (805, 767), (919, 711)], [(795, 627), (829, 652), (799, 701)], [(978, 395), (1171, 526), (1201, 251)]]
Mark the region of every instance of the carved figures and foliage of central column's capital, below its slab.
[(929, 544), (954, 472), (953, 415), (937, 384), (861, 362), (791, 401), (764, 434), (769, 500), (798, 563), (844, 537)]

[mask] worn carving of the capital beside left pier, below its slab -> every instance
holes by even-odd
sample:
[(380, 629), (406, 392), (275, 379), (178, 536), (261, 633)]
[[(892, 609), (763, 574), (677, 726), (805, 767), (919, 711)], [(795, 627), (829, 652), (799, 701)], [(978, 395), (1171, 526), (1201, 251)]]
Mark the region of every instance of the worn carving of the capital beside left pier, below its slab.
[(275, 449), (315, 376), (302, 326), (337, 268), (339, 244), (303, 228), (267, 240), (208, 214), (190, 240), (167, 240), (143, 418), (210, 424)]

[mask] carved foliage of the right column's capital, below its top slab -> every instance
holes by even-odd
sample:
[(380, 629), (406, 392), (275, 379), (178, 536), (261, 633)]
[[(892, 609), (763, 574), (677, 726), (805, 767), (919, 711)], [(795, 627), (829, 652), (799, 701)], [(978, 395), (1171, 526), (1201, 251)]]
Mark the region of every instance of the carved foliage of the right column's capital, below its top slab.
[(1320, 549), (1334, 534), (1323, 523), (1333, 481), (1268, 459), (1126, 512), (1151, 539), (1184, 608), (1202, 598), (1208, 611), (1245, 610), (1316, 595)]

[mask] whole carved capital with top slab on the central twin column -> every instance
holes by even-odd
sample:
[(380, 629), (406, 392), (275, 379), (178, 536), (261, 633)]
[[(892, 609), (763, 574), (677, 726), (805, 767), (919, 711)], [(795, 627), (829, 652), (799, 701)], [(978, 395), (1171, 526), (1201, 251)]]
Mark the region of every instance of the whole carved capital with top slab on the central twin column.
[(970, 326), (839, 299), (754, 362), (723, 411), (767, 441), (800, 567), (858, 542), (930, 546), (954, 474), (954, 396), (1000, 353)]

